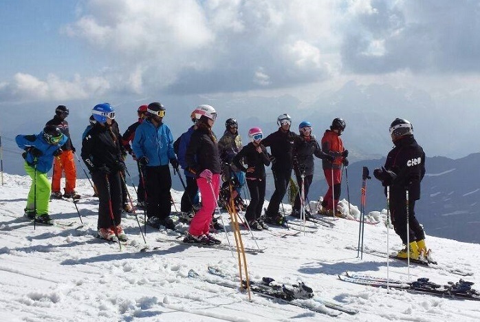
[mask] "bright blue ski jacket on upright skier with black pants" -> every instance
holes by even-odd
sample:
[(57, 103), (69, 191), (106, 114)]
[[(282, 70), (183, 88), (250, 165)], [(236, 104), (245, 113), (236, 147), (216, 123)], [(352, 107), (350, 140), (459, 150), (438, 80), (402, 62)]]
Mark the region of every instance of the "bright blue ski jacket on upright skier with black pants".
[(135, 131), (131, 147), (137, 160), (142, 157), (149, 159), (147, 167), (168, 165), (171, 159), (176, 159), (173, 151), (173, 135), (164, 123), (156, 128), (150, 120), (144, 120)]

